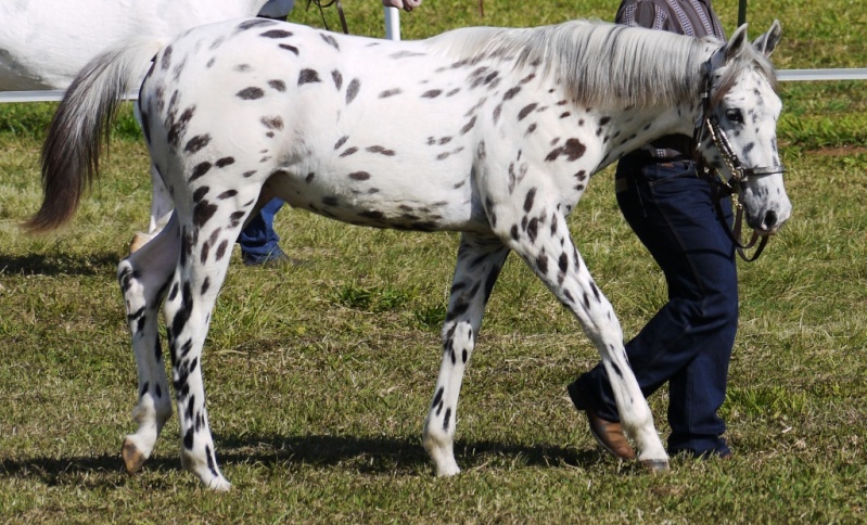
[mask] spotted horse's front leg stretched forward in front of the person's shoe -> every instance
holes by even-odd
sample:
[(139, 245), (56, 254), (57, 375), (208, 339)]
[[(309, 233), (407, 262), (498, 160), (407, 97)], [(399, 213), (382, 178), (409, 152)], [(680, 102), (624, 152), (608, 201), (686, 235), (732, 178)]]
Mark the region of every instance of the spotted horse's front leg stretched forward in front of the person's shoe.
[(611, 380), (623, 428), (639, 450), (638, 459), (653, 470), (665, 469), (668, 457), (653, 427), (647, 400), (629, 368), (623, 332), (614, 310), (575, 249), (563, 215), (539, 201), (538, 196), (527, 199), (525, 220), (522, 220), (522, 226), (515, 225), (510, 230), (509, 244), (578, 318), (596, 345)]

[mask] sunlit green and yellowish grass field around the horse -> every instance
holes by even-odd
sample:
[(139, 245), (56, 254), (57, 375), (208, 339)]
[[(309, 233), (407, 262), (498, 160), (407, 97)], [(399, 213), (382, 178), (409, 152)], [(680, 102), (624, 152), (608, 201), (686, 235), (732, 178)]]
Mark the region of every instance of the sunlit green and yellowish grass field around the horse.
[[(428, 0), (403, 37), (467, 25), (611, 20), (616, 2)], [(727, 33), (737, 2), (716, 2)], [(382, 36), (373, 0), (344, 2)], [(333, 10), (326, 14), (339, 29)], [(750, 1), (751, 36), (780, 18), (780, 68), (867, 64), (859, 0)], [(322, 26), (301, 2), (293, 22)], [(399, 74), (399, 72), (395, 72)], [(0, 105), (0, 522), (854, 522), (867, 517), (867, 87), (783, 84), (794, 215), (741, 264), (741, 323), (723, 412), (730, 462), (646, 475), (603, 456), (565, 385), (598, 359), (577, 323), (510, 257), (466, 375), (456, 454), (437, 479), (420, 444), (439, 364), (457, 234), (343, 226), (284, 209), (301, 266), (245, 268), (238, 249), (205, 347), (224, 474), (180, 469), (176, 419), (142, 473), (122, 472), (136, 372), (115, 266), (145, 227), (148, 157), (128, 108), (74, 223), (31, 238), (53, 104)], [(570, 219), (626, 336), (664, 283), (620, 216), (611, 172)], [(667, 434), (666, 394), (651, 398)]]

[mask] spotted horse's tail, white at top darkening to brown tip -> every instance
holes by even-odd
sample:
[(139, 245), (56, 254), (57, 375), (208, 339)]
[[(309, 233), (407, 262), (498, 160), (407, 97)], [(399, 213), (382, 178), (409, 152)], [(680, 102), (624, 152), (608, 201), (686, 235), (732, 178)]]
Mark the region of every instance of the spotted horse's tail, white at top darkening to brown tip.
[(165, 42), (140, 40), (103, 52), (73, 80), (42, 145), (42, 206), (24, 223), (30, 232), (54, 230), (78, 208), (99, 175), (100, 141), (106, 142), (117, 105), (137, 87)]

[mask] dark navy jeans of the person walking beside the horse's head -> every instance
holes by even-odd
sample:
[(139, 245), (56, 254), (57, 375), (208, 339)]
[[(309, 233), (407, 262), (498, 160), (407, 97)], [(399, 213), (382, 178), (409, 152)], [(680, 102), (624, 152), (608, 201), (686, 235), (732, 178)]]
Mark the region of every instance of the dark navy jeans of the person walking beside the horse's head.
[[(726, 454), (717, 411), (738, 328), (738, 279), (710, 184), (689, 161), (653, 164), (634, 156), (621, 161), (616, 178), (617, 204), (668, 286), (668, 303), (626, 344), (633, 372), (645, 397), (668, 383), (670, 453)], [(723, 209), (731, 223), (727, 202)], [(620, 421), (601, 363), (569, 392), (578, 409)]]

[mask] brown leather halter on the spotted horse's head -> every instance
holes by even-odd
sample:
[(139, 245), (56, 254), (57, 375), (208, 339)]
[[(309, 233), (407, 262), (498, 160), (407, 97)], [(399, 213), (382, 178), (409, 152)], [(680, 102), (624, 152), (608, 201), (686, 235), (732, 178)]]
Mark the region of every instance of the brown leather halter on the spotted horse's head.
[[(701, 91), (701, 119), (692, 131), (692, 154), (696, 159), (696, 172), (699, 177), (710, 182), (716, 213), (719, 216), (719, 220), (723, 222), (724, 230), (729, 239), (731, 239), (732, 244), (735, 244), (738, 255), (740, 255), (743, 260), (750, 262), (762, 255), (762, 251), (765, 249), (765, 245), (770, 235), (760, 235), (757, 232), (753, 231), (749, 242), (743, 243), (741, 241), (741, 229), (743, 226), (743, 204), (741, 203), (743, 181), (748, 177), (766, 177), (768, 175), (783, 174), (786, 168), (782, 165), (754, 168), (743, 167), (743, 163), (741, 163), (737, 153), (735, 153), (735, 150), (731, 148), (731, 142), (728, 140), (726, 132), (719, 127), (719, 119), (716, 117), (716, 113), (714, 113), (713, 107), (711, 107), (710, 61), (702, 66), (702, 71), (704, 73), (704, 78)], [(726, 166), (731, 171), (731, 178), (729, 180), (724, 179), (714, 167), (709, 166), (704, 157), (698, 152), (698, 145), (701, 143), (701, 139), (704, 137), (705, 132), (711, 136), (711, 140), (719, 151)], [(719, 201), (726, 196), (731, 197), (731, 206), (736, 210), (734, 226), (729, 225), (724, 219), (723, 208), (719, 204)], [(756, 242), (758, 242), (758, 247), (755, 249), (755, 253), (753, 253), (752, 256), (748, 256), (747, 251), (755, 246)]]

